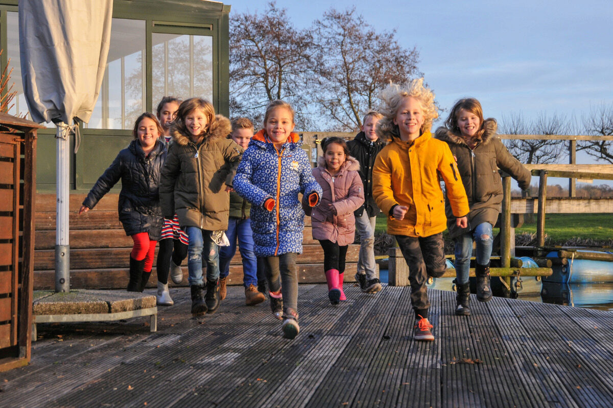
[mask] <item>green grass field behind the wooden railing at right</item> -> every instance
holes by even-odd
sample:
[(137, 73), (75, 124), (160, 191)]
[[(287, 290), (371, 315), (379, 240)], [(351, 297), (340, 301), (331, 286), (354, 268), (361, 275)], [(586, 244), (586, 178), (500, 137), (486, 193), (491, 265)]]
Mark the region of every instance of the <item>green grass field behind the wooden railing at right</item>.
[[(375, 233), (385, 232), (387, 218), (377, 217)], [(534, 221), (524, 223), (515, 229), (516, 234), (524, 232), (536, 234), (536, 215)], [(606, 241), (613, 239), (613, 214), (548, 214), (545, 217), (545, 233), (550, 244), (563, 245), (568, 240), (583, 239)], [(498, 234), (498, 231), (494, 231)]]

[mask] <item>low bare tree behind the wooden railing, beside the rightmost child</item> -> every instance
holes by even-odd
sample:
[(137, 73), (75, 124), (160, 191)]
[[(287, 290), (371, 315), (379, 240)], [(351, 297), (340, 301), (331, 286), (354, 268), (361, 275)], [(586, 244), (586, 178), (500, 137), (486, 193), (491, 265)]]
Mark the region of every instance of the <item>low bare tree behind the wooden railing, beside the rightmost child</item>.
[[(554, 113), (539, 113), (535, 121), (528, 121), (522, 113), (502, 116), (500, 133), (506, 135), (568, 135), (572, 132), (571, 122), (565, 116)], [(506, 147), (522, 163), (555, 163), (565, 147), (565, 142), (551, 139), (506, 139)]]

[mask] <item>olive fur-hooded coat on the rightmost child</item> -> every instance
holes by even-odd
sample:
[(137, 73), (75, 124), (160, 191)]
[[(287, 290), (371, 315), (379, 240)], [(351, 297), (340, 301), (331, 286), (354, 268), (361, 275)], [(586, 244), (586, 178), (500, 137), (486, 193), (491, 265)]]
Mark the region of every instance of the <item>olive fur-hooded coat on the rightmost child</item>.
[[(485, 119), (483, 125), (485, 132), (473, 150), (459, 133), (445, 127), (436, 130), (436, 138), (447, 142), (454, 155), (470, 206), (468, 228), (460, 229), (455, 226), (455, 220), (448, 218), (447, 228), (451, 237), (471, 231), (484, 222), (496, 223), (503, 198), (499, 168), (516, 179), (522, 190), (530, 186), (530, 171), (508, 152), (496, 136), (496, 121)], [(445, 209), (447, 214), (451, 212), (447, 200)]]

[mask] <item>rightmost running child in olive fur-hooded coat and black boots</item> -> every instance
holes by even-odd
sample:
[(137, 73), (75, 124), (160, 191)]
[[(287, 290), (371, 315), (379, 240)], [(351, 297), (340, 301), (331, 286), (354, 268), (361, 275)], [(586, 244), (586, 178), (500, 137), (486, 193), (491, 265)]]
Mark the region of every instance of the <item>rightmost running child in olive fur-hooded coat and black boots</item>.
[[(476, 243), (475, 275), (477, 300), (492, 299), (490, 288), (490, 256), (492, 255), (492, 226), (500, 213), (503, 198), (498, 168), (517, 180), (522, 190), (530, 187), (531, 174), (514, 158), (496, 136), (495, 119), (483, 120), (481, 103), (474, 98), (460, 99), (455, 103), (445, 121), (445, 127), (436, 130), (436, 138), (447, 142), (468, 196), (468, 226), (460, 228), (447, 221), (449, 235), (455, 242), (455, 287), (457, 290), (455, 314), (470, 314), (470, 286), (468, 273)], [(447, 216), (451, 205), (445, 201)]]

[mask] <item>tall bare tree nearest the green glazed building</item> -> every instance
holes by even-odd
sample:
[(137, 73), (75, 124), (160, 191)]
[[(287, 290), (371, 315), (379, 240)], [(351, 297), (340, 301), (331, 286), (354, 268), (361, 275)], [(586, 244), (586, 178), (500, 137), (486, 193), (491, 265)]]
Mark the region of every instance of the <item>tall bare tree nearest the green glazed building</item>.
[(264, 13), (230, 19), (230, 114), (261, 122), (271, 100), (291, 103), (299, 127), (307, 127), (304, 89), (313, 76), (313, 37), (295, 28), (286, 9), (270, 2)]

